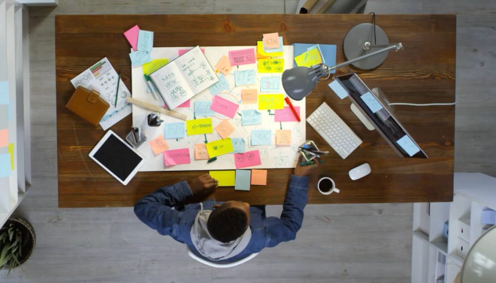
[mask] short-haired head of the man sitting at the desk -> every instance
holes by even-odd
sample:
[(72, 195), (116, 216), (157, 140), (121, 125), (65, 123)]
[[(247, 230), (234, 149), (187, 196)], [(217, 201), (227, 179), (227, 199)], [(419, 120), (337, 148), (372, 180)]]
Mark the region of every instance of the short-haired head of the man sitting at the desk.
[(239, 238), (249, 225), (249, 204), (227, 201), (208, 217), (207, 228), (212, 237), (223, 243)]

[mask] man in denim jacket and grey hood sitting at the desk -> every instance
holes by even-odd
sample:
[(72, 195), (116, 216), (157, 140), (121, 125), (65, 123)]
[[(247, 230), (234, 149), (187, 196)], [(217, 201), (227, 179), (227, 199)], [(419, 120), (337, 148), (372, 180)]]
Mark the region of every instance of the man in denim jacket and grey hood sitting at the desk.
[(316, 167), (318, 163), (297, 164), (281, 218), (266, 218), (265, 206), (250, 207), (241, 201), (216, 203), (210, 199), (184, 205), (190, 197), (206, 197), (215, 191), (218, 181), (209, 174), (158, 189), (139, 200), (134, 213), (146, 225), (185, 243), (207, 260), (238, 261), (264, 247), (296, 238), (308, 201), (308, 175)]

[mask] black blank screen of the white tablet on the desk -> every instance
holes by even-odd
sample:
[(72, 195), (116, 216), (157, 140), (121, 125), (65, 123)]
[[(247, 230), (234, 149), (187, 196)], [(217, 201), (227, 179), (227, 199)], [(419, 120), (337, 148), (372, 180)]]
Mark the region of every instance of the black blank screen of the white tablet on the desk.
[(93, 158), (112, 171), (122, 181), (129, 176), (142, 160), (141, 157), (113, 134), (109, 135), (107, 140), (93, 155)]

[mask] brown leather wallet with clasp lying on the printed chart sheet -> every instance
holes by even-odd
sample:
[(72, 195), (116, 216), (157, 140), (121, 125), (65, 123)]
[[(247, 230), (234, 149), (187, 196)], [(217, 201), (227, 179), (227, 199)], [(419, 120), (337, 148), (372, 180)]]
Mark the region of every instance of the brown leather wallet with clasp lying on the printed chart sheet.
[(96, 90), (78, 86), (65, 107), (97, 127), (110, 105)]

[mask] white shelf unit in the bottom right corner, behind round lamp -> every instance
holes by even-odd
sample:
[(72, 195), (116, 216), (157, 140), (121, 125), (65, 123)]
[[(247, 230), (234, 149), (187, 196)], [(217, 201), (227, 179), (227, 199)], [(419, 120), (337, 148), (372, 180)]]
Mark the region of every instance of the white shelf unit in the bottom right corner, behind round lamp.
[[(496, 210), (496, 178), (455, 173), (453, 184), (450, 203), (414, 203), (412, 283), (453, 283), (470, 247), (483, 233), (482, 210)], [(442, 235), (446, 221), (448, 238)]]

